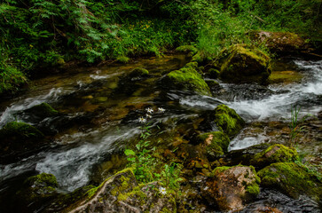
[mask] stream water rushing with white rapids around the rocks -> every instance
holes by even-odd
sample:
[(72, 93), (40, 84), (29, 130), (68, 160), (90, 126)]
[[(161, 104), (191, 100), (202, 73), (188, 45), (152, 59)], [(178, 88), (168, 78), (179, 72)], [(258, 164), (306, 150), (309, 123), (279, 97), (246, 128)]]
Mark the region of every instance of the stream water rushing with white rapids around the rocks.
[[(164, 88), (160, 81), (162, 75), (183, 67), (186, 62), (184, 55), (172, 55), (139, 59), (130, 65), (69, 70), (35, 80), (32, 89), (24, 95), (0, 103), (0, 127), (12, 121), (28, 122), (54, 135), (40, 152), (19, 162), (0, 164), (0, 194), (14, 191), (12, 185), (19, 185), (24, 178), (41, 172), (55, 175), (61, 190), (71, 192), (88, 185), (93, 170), (101, 162), (118, 154), (137, 137), (138, 118), (145, 114), (147, 106), (166, 109), (164, 114), (154, 114), (152, 123), (174, 121), (174, 126), (186, 118), (198, 118), (198, 114), (220, 104), (232, 107), (247, 121), (247, 128), (232, 140), (230, 150), (275, 139), (264, 126), (271, 123), (287, 126), (294, 106), (301, 106), (300, 117), (318, 116), (322, 111), (322, 60), (287, 58), (277, 63), (275, 72), (290, 74), (292, 71), (301, 76), (295, 81), (274, 82), (268, 86), (220, 82), (214, 97)], [(126, 82), (125, 75), (135, 67), (146, 68), (150, 77)], [(40, 121), (25, 113), (43, 102), (51, 104), (60, 114)], [(254, 123), (261, 131), (254, 130)], [(313, 138), (321, 138), (320, 131), (318, 134)], [(321, 140), (316, 140), (308, 151), (315, 150), (318, 155)]]

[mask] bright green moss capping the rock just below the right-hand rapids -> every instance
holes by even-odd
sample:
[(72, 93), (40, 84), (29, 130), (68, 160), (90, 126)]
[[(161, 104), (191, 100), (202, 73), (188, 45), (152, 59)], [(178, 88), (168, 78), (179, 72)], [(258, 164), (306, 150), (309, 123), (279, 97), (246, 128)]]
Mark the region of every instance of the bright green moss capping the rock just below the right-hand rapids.
[(225, 105), (216, 107), (214, 122), (219, 130), (224, 131), (230, 137), (237, 135), (245, 125), (240, 115)]

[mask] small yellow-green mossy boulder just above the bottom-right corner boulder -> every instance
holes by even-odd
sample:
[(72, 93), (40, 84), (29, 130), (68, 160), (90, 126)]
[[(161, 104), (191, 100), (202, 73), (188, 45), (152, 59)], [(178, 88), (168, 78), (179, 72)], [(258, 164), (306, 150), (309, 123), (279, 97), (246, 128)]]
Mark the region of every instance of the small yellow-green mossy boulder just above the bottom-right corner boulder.
[(250, 164), (263, 168), (274, 162), (295, 162), (296, 160), (298, 160), (298, 154), (295, 148), (276, 144), (261, 153), (255, 154)]

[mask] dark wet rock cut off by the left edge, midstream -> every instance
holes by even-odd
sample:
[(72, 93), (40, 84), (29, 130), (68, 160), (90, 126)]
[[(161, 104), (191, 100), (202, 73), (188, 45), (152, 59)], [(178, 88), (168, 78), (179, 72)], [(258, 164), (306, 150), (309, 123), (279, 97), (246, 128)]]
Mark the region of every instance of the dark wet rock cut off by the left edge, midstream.
[(39, 149), (43, 133), (25, 122), (9, 122), (0, 130), (0, 163), (14, 162)]

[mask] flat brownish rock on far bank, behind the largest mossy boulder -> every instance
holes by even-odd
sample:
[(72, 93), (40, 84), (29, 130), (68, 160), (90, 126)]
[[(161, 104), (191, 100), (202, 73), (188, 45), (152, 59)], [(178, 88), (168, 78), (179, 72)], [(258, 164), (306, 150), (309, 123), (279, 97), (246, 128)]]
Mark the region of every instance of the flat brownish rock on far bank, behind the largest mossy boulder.
[(295, 33), (253, 31), (250, 36), (257, 42), (265, 43), (271, 51), (278, 53), (303, 51), (309, 48), (308, 43)]

